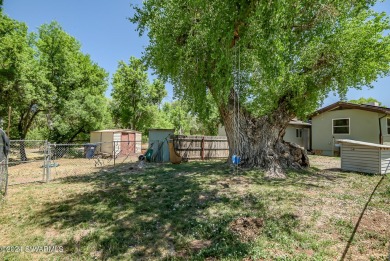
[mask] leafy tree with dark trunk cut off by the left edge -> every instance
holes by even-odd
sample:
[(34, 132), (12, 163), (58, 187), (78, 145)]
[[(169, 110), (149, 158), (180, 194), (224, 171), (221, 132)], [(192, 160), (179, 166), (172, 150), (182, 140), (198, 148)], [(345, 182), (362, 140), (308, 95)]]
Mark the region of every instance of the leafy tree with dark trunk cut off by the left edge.
[[(35, 119), (47, 109), (52, 92), (25, 24), (0, 12), (0, 118), (12, 108), (10, 136), (24, 140)], [(24, 146), (21, 159), (27, 160)]]

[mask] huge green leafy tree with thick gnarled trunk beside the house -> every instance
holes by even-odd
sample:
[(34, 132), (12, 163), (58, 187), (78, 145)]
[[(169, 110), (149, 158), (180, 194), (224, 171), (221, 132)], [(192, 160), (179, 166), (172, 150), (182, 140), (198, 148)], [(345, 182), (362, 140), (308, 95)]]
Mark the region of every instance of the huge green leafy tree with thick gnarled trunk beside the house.
[(131, 21), (150, 38), (148, 64), (200, 114), (213, 96), (242, 165), (284, 177), (283, 168), (309, 164), (283, 141), (293, 117), (329, 91), (345, 94), (388, 74), (389, 19), (370, 10), (374, 3), (146, 0)]

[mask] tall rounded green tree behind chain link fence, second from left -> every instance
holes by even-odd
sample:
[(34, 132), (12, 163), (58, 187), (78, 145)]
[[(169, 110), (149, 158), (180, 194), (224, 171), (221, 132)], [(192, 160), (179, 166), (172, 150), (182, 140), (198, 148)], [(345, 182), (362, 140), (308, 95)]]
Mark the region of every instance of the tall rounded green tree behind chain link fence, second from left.
[(52, 22), (39, 28), (40, 65), (53, 85), (46, 111), (49, 139), (72, 142), (104, 127), (109, 117), (107, 72), (81, 52), (80, 43)]

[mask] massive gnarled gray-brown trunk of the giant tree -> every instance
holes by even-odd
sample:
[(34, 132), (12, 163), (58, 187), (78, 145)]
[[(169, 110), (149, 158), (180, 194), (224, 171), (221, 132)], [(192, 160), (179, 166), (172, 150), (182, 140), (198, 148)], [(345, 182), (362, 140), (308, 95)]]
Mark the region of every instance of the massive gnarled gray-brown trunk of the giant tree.
[(271, 115), (257, 118), (244, 109), (237, 112), (236, 108), (234, 113), (234, 107), (230, 99), (228, 106), (220, 107), (220, 112), (230, 154), (241, 157), (240, 166), (261, 167), (267, 178), (285, 178), (285, 169), (309, 166), (305, 149), (283, 140), (286, 127), (293, 118), (283, 102)]

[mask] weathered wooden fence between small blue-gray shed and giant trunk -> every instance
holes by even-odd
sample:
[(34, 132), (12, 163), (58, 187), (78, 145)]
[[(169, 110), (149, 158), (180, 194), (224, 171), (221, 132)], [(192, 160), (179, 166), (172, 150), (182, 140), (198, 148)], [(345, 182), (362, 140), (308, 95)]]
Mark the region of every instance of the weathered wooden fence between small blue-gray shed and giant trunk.
[(229, 144), (227, 138), (222, 136), (174, 135), (173, 144), (183, 159), (204, 160), (229, 157)]

